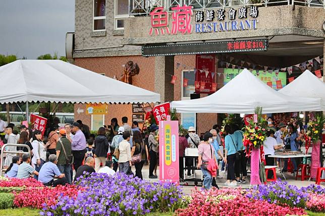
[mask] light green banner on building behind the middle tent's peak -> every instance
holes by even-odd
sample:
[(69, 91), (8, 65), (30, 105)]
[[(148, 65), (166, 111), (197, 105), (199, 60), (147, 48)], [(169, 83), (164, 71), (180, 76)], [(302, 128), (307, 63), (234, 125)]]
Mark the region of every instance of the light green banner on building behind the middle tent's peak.
[[(237, 75), (239, 75), (239, 73), (242, 71), (242, 69), (240, 69), (238, 71), (238, 69), (232, 69), (232, 68), (224, 68), (224, 85), (226, 85), (229, 81), (231, 81), (232, 79), (234, 79)], [(256, 75), (256, 70), (252, 71), (252, 74)], [(267, 84), (268, 82), (272, 82), (272, 88), (277, 89), (277, 80), (281, 80), (281, 85), (282, 88), (284, 88), (287, 85), (287, 73), (285, 72), (279, 72), (278, 76), (276, 76), (276, 73), (273, 71), (272, 73), (266, 73), (261, 74), (259, 73), (259, 76), (257, 76), (261, 81), (263, 81), (263, 83)]]

